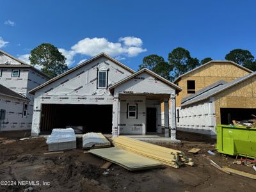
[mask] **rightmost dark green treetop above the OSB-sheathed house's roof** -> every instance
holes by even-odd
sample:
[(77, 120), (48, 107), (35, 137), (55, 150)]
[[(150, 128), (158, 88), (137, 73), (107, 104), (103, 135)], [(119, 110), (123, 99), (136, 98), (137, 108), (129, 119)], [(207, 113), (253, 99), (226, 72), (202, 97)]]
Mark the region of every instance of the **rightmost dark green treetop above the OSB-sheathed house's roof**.
[(248, 50), (234, 49), (226, 54), (225, 59), (229, 61), (234, 61), (235, 63), (250, 68), (251, 70), (255, 70), (256, 68), (254, 56)]

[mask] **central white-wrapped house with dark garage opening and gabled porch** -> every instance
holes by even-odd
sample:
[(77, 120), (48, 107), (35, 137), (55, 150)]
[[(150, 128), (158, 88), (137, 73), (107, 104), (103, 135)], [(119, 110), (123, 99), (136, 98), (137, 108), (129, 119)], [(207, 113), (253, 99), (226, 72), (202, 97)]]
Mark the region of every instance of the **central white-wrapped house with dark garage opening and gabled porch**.
[[(31, 90), (35, 94), (31, 134), (71, 124), (83, 126), (84, 132), (113, 136), (161, 132), (160, 104), (176, 90), (181, 88), (154, 72), (144, 68), (135, 73), (102, 53)], [(175, 131), (175, 118), (169, 126), (175, 102), (170, 108), (166, 127)]]

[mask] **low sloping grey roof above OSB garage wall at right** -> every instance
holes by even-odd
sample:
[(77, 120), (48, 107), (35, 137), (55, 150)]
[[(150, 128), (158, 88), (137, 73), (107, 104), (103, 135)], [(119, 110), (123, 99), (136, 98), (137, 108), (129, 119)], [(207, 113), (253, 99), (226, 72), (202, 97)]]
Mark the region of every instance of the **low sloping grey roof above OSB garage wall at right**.
[(235, 86), (236, 84), (245, 81), (246, 79), (250, 79), (253, 76), (256, 76), (256, 72), (252, 72), (251, 74), (247, 74), (246, 76), (240, 77), (239, 79), (236, 79), (228, 83), (224, 83), (225, 81), (218, 81), (217, 83), (214, 83), (215, 85), (211, 84), (210, 86), (204, 88), (204, 90), (200, 90), (199, 92), (189, 97), (186, 97), (184, 100), (182, 100), (181, 106), (187, 106), (189, 104), (193, 104), (201, 100), (209, 99), (210, 97), (220, 92), (223, 92), (228, 88), (231, 88), (232, 86)]

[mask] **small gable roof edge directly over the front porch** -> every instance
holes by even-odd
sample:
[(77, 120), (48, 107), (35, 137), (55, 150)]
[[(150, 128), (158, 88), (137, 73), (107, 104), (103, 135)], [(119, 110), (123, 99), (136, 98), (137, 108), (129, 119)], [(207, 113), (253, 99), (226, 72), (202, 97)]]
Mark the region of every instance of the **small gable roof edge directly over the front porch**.
[(164, 77), (159, 76), (158, 74), (156, 74), (155, 72), (152, 72), (152, 70), (149, 70), (148, 68), (143, 68), (143, 69), (139, 70), (138, 72), (132, 74), (131, 76), (128, 76), (128, 77), (122, 79), (121, 81), (118, 81), (117, 83), (113, 84), (112, 86), (109, 86), (109, 90), (112, 90), (116, 86), (119, 86), (120, 84), (125, 83), (126, 81), (129, 81), (133, 77), (136, 77), (136, 76), (142, 74), (143, 72), (147, 72), (148, 74), (156, 77), (157, 79), (160, 79), (164, 83), (175, 88), (175, 90), (177, 90), (178, 92), (180, 92), (182, 90), (182, 88), (180, 88), (180, 86), (177, 86), (177, 84), (174, 84), (174, 83), (168, 81), (167, 79), (164, 79)]

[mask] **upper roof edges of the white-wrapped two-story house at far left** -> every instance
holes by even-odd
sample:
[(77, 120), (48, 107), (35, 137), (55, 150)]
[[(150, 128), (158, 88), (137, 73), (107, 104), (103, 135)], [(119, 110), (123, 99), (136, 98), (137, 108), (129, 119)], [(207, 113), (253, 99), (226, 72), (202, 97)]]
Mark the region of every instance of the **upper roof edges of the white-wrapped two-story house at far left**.
[(38, 74), (41, 74), (42, 76), (46, 77), (46, 79), (51, 79), (49, 76), (45, 75), (41, 70), (38, 70), (37, 68), (33, 67), (33, 65), (29, 65), (28, 63), (26, 63), (25, 61), (19, 60), (18, 58), (15, 58), (14, 56), (8, 54), (7, 52), (4, 52), (3, 50), (0, 49), (0, 52), (2, 54), (5, 54), (6, 56), (12, 58), (15, 61), (18, 61), (20, 63), (20, 65), (12, 65), (12, 64), (1, 64), (0, 63), (0, 67), (6, 67), (6, 68), (31, 68), (32, 70), (34, 70), (35, 72), (37, 72)]

